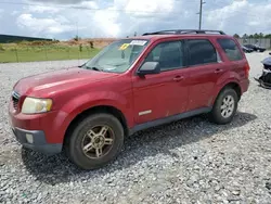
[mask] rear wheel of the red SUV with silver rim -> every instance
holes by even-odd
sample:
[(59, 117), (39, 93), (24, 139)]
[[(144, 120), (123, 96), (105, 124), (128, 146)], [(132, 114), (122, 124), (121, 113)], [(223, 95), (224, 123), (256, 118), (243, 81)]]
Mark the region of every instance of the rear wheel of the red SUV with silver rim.
[[(233, 100), (233, 102), (230, 102), (230, 99)], [(232, 104), (233, 107), (230, 104)], [(222, 105), (224, 107), (223, 110), (222, 110)], [(232, 88), (223, 89), (219, 93), (212, 106), (212, 110), (210, 112), (210, 120), (218, 125), (225, 125), (225, 124), (231, 123), (236, 113), (237, 105), (238, 105), (238, 97), (237, 97), (236, 91)]]

